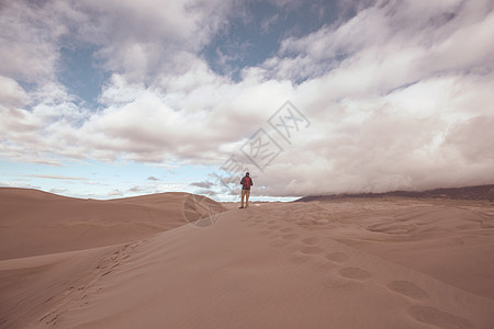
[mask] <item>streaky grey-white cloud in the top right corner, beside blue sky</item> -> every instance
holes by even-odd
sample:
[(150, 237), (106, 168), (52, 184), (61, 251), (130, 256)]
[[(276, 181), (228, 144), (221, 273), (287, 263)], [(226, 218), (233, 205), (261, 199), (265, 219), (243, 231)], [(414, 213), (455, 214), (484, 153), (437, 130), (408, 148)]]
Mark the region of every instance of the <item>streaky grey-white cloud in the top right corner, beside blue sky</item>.
[(274, 77), (294, 80), (333, 69), (335, 86), (327, 86), (332, 90), (380, 92), (486, 61), (492, 68), (493, 20), (490, 1), (391, 1), (367, 8), (340, 25), (287, 38), (280, 57), (265, 66)]

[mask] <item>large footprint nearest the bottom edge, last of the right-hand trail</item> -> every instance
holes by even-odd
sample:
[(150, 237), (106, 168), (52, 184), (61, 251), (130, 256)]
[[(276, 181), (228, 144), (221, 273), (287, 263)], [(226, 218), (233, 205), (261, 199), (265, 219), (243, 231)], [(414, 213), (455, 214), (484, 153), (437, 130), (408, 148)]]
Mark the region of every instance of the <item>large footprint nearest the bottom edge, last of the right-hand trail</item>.
[(456, 315), (442, 311), (431, 306), (412, 305), (408, 309), (409, 315), (417, 321), (437, 326), (439, 328), (471, 328), (467, 319)]

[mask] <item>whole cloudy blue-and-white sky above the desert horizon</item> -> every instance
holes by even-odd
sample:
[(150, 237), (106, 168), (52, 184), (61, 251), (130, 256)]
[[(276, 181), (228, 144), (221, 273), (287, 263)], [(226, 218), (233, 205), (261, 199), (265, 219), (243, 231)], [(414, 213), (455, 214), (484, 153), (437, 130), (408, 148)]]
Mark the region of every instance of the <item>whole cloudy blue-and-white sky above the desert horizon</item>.
[(0, 186), (492, 184), (493, 90), (493, 0), (0, 0)]

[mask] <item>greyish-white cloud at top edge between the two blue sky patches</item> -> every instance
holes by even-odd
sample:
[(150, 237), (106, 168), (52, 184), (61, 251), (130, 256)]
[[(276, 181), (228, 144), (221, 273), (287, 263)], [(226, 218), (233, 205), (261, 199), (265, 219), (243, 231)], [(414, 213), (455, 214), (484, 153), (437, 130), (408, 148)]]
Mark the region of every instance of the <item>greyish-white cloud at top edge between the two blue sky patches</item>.
[(78, 1), (88, 24), (78, 37), (100, 46), (97, 56), (130, 82), (151, 82), (188, 70), (183, 57), (199, 52), (227, 23), (235, 1)]

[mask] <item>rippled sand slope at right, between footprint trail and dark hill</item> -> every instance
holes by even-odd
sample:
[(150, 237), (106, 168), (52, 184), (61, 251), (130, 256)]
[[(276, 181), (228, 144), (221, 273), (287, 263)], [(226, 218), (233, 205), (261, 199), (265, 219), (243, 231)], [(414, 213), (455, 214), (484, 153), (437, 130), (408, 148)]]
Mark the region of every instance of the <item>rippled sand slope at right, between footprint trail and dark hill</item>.
[(311, 204), (292, 208), (301, 226), (494, 299), (492, 203), (363, 198)]

